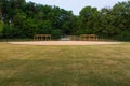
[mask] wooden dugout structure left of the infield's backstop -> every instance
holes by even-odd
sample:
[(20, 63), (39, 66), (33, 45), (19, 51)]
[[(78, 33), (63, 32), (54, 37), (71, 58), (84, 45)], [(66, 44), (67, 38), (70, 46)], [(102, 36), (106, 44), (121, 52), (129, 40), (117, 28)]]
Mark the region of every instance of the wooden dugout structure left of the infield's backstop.
[(51, 40), (51, 34), (36, 34), (34, 41), (48, 41)]

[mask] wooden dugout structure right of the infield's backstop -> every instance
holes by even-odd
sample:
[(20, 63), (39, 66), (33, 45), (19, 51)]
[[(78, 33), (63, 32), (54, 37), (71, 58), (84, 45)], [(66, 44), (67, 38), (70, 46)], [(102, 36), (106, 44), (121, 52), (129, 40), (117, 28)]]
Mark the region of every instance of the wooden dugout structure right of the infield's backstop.
[(98, 35), (95, 35), (95, 34), (81, 34), (80, 40), (82, 40), (82, 41), (96, 41)]

